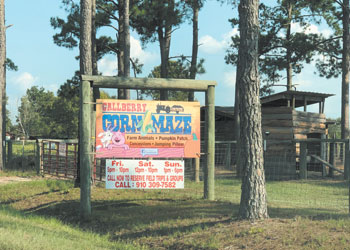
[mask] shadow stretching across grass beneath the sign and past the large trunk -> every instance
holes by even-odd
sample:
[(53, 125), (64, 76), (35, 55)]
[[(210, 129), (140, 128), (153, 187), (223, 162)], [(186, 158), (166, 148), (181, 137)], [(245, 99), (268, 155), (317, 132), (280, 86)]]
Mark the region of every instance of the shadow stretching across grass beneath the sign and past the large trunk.
[[(120, 199), (92, 202), (89, 221), (80, 221), (79, 201), (48, 202), (26, 213), (54, 217), (66, 224), (111, 240), (133, 241), (142, 237), (162, 237), (210, 229), (230, 223), (238, 217), (239, 204), (191, 199)], [(271, 218), (312, 220), (349, 219), (346, 213), (312, 208), (269, 208)]]

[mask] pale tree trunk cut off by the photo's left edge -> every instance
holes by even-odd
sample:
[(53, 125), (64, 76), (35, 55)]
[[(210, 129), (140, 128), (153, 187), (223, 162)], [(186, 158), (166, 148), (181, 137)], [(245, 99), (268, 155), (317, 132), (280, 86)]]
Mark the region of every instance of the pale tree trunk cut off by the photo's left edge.
[[(4, 134), (6, 134), (6, 27), (5, 27), (5, 1), (0, 0), (0, 171), (4, 169), (4, 152), (3, 152), (3, 141), (5, 140)], [(4, 122), (5, 121), (5, 122)], [(5, 123), (5, 126), (4, 126)]]

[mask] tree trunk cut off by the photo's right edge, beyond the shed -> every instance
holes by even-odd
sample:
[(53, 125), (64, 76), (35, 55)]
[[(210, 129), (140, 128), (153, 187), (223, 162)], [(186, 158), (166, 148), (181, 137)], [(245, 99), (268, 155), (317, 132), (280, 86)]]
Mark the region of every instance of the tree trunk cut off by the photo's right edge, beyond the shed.
[(349, 0), (343, 1), (343, 60), (341, 94), (341, 137), (349, 138), (349, 70), (350, 70), (350, 8)]

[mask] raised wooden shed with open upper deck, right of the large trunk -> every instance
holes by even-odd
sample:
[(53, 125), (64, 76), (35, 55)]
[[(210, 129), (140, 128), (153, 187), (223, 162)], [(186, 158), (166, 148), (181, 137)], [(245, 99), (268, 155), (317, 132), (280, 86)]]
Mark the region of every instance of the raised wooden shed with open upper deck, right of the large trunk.
[[(263, 136), (268, 142), (265, 152), (268, 178), (296, 177), (299, 145), (291, 140), (326, 137), (324, 106), (330, 96), (332, 94), (284, 91), (261, 98)], [(307, 111), (311, 104), (318, 104), (318, 113)], [(321, 156), (321, 145), (310, 144), (308, 150)], [(310, 163), (308, 167), (312, 166)], [(314, 167), (317, 168), (317, 164)]]

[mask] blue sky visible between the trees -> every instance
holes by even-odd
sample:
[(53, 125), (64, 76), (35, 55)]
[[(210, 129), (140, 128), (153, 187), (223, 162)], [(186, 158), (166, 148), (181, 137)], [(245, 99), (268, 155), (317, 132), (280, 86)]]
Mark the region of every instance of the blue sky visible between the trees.
[[(59, 86), (78, 70), (79, 63), (74, 58), (78, 54), (77, 49), (68, 50), (53, 43), (52, 36), (56, 31), (50, 26), (50, 17), (66, 16), (60, 8), (61, 0), (7, 0), (5, 4), (6, 24), (13, 24), (7, 30), (7, 57), (19, 67), (17, 72), (7, 73), (8, 109), (14, 121), (20, 98), (27, 88), (42, 86), (56, 93)], [(199, 57), (205, 59), (206, 73), (198, 79), (217, 81), (216, 105), (220, 106), (234, 104), (236, 69), (226, 65), (224, 57), (230, 36), (237, 32), (231, 28), (228, 19), (236, 14), (232, 6), (208, 0), (199, 15)], [(298, 25), (295, 24), (294, 30), (297, 29)], [(112, 31), (106, 29), (101, 32)], [(308, 32), (330, 33), (327, 27), (314, 25)], [(144, 63), (143, 73), (139, 77), (145, 77), (154, 66), (160, 64), (159, 46), (153, 43), (143, 48), (137, 34), (131, 32), (131, 36), (131, 55)], [(173, 33), (170, 56), (190, 55), (191, 46), (191, 26), (184, 23)], [(116, 58), (106, 56), (100, 60), (99, 70), (104, 75), (116, 74)], [(319, 78), (314, 71), (313, 65), (307, 65), (300, 75), (294, 77), (294, 83), (298, 84), (297, 90), (335, 94), (326, 100), (325, 113), (330, 118), (339, 117), (341, 79)], [(203, 104), (203, 94), (196, 97)], [(313, 110), (316, 111), (317, 107), (313, 107)]]

